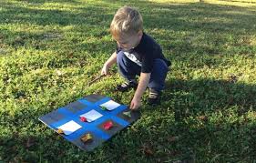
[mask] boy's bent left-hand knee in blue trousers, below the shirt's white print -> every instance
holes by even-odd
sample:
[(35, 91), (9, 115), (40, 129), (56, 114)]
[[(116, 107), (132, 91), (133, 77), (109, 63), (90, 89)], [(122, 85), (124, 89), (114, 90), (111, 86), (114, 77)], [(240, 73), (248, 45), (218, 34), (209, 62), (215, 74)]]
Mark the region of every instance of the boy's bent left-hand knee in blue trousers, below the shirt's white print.
[(122, 51), (117, 55), (117, 62), (120, 75), (128, 81), (134, 80), (140, 74), (141, 67), (129, 60)]

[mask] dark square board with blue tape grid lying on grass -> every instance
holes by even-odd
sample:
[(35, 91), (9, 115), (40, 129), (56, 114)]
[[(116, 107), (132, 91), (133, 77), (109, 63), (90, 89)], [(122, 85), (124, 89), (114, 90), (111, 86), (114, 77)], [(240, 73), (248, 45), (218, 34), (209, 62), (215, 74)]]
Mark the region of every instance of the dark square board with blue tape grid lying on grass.
[[(97, 103), (102, 102), (103, 98), (109, 99), (109, 97), (104, 97), (101, 95), (87, 96), (83, 98), (83, 100), (79, 99), (76, 102), (68, 104), (66, 107), (59, 107), (51, 113), (39, 117), (39, 120), (52, 129), (56, 129), (52, 127), (56, 124), (59, 125), (68, 120), (76, 121), (80, 126), (82, 126), (82, 128), (78, 129), (70, 135), (62, 136), (75, 144), (78, 148), (91, 151), (94, 148), (100, 146), (103, 142), (107, 141), (109, 138), (113, 137), (124, 127), (128, 127), (128, 124), (136, 121), (140, 116), (139, 112), (132, 112), (130, 118), (124, 116), (123, 112), (129, 110), (125, 105), (121, 105), (113, 111), (102, 111)], [(100, 114), (102, 114), (102, 117), (88, 124), (80, 122), (79, 115), (86, 113), (91, 109), (97, 110)], [(107, 121), (112, 121), (114, 127), (111, 127), (109, 130), (105, 130), (103, 124)], [(123, 125), (123, 123), (126, 125)], [(93, 139), (91, 142), (83, 143), (80, 138), (82, 138), (87, 133), (90, 133), (93, 136)]]

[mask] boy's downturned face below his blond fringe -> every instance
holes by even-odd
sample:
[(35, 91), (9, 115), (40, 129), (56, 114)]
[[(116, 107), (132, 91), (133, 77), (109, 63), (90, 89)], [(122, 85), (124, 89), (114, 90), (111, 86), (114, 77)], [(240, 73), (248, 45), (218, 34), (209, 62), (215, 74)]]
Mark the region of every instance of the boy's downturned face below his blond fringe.
[(142, 31), (139, 31), (138, 34), (133, 36), (113, 36), (113, 39), (117, 41), (118, 46), (121, 47), (123, 51), (129, 51), (138, 46), (142, 35)]

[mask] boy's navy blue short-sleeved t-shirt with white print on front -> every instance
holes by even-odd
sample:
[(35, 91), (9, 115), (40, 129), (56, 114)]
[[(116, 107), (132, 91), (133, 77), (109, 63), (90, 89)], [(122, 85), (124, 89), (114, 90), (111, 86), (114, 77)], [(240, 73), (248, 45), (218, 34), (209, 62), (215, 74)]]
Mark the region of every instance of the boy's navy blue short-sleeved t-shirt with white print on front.
[[(121, 50), (120, 47), (117, 47), (117, 54)], [(141, 66), (142, 73), (151, 73), (154, 60), (157, 58), (164, 60), (167, 66), (170, 66), (170, 61), (163, 55), (159, 44), (145, 33), (143, 33), (138, 46), (124, 53), (131, 61)]]

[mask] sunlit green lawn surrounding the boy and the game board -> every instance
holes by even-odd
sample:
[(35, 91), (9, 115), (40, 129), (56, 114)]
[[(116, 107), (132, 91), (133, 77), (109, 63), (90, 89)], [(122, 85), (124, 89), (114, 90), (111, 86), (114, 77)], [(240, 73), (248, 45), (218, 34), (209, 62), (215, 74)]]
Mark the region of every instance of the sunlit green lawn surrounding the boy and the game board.
[[(37, 118), (92, 93), (129, 104), (116, 66), (87, 87), (122, 5), (138, 7), (171, 71), (159, 107), (87, 153)], [(256, 161), (255, 62), (255, 0), (1, 0), (0, 162)]]

